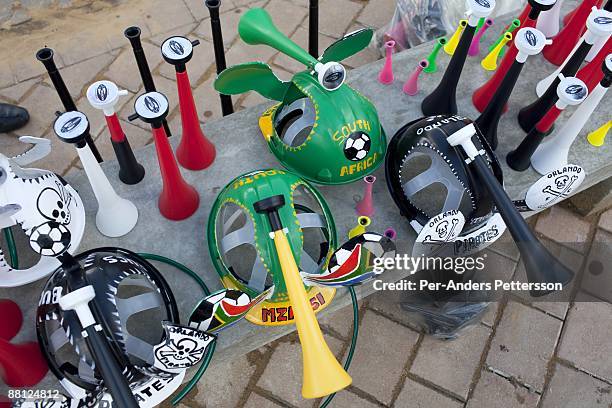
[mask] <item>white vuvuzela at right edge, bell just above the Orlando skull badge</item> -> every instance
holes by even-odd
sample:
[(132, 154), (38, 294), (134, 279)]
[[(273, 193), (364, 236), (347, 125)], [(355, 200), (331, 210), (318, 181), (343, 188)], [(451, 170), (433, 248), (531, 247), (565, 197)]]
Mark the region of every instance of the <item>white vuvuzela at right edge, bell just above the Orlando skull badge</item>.
[[(608, 57), (612, 61), (612, 58)], [(602, 81), (603, 82), (603, 81)], [(563, 127), (554, 136), (546, 138), (531, 157), (531, 166), (540, 174), (567, 164), (569, 150), (574, 140), (589, 120), (591, 114), (599, 105), (608, 90), (607, 86), (599, 83), (593, 92), (580, 104), (574, 114), (565, 122)]]

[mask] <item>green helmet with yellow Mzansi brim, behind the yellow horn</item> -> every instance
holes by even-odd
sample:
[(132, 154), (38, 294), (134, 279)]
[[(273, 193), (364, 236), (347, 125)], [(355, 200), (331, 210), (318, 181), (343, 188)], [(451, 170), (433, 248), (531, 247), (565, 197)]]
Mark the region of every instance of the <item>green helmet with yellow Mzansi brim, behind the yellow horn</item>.
[[(284, 170), (258, 170), (231, 181), (219, 193), (208, 218), (208, 247), (226, 288), (249, 296), (274, 286), (271, 297), (255, 306), (246, 318), (257, 324), (293, 323), (289, 301), (268, 220), (256, 213), (254, 203), (282, 195), (278, 210), (299, 269), (321, 273), (336, 246), (336, 228), (323, 197), (306, 181)], [(333, 288), (308, 288), (318, 312), (335, 293)]]

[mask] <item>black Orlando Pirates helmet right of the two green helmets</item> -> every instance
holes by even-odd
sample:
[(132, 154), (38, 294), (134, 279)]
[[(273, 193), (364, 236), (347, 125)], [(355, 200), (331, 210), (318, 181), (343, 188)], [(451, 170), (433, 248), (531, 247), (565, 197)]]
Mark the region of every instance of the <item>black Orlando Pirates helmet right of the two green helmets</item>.
[[(465, 224), (455, 241), (457, 254), (482, 249), (499, 238), (505, 229), (495, 212), (491, 194), (478, 175), (468, 167), (461, 149), (450, 146), (446, 135), (471, 120), (462, 116), (430, 116), (400, 128), (391, 139), (385, 164), (387, 187), (414, 230), (421, 230), (440, 214), (461, 213)], [(500, 181), (501, 167), (479, 132), (479, 150)], [(446, 224), (438, 231), (447, 234)], [(444, 233), (444, 234), (442, 234)]]

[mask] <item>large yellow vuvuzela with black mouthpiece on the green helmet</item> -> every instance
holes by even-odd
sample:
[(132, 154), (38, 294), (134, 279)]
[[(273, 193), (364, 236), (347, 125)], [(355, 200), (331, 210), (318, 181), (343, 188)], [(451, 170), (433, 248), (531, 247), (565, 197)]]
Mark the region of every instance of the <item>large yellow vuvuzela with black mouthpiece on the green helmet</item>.
[(308, 301), (300, 271), (293, 258), (287, 236), (278, 214), (285, 205), (283, 195), (275, 195), (256, 202), (256, 212), (266, 214), (274, 237), (274, 246), (293, 307), (295, 325), (302, 345), (304, 398), (320, 398), (349, 386), (353, 381), (329, 349), (312, 306)]

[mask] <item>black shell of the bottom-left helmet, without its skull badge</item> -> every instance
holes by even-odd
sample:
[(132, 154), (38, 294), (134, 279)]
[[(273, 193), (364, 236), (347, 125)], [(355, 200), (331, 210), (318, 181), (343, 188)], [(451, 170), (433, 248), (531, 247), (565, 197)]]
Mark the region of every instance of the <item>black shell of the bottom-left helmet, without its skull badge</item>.
[[(167, 378), (165, 391), (180, 385), (184, 373), (173, 379), (148, 361), (163, 337), (163, 322), (179, 322), (174, 296), (163, 276), (138, 255), (120, 248), (86, 251), (75, 260), (94, 287), (96, 297), (90, 304), (95, 305), (99, 324), (133, 388), (156, 381), (153, 377), (159, 375)], [(58, 303), (67, 290), (68, 275), (60, 267), (49, 277), (40, 297), (36, 318), (39, 344), (51, 371), (69, 394), (93, 406), (105, 398), (103, 383), (76, 313), (63, 310)], [(148, 405), (143, 401), (142, 406)]]

